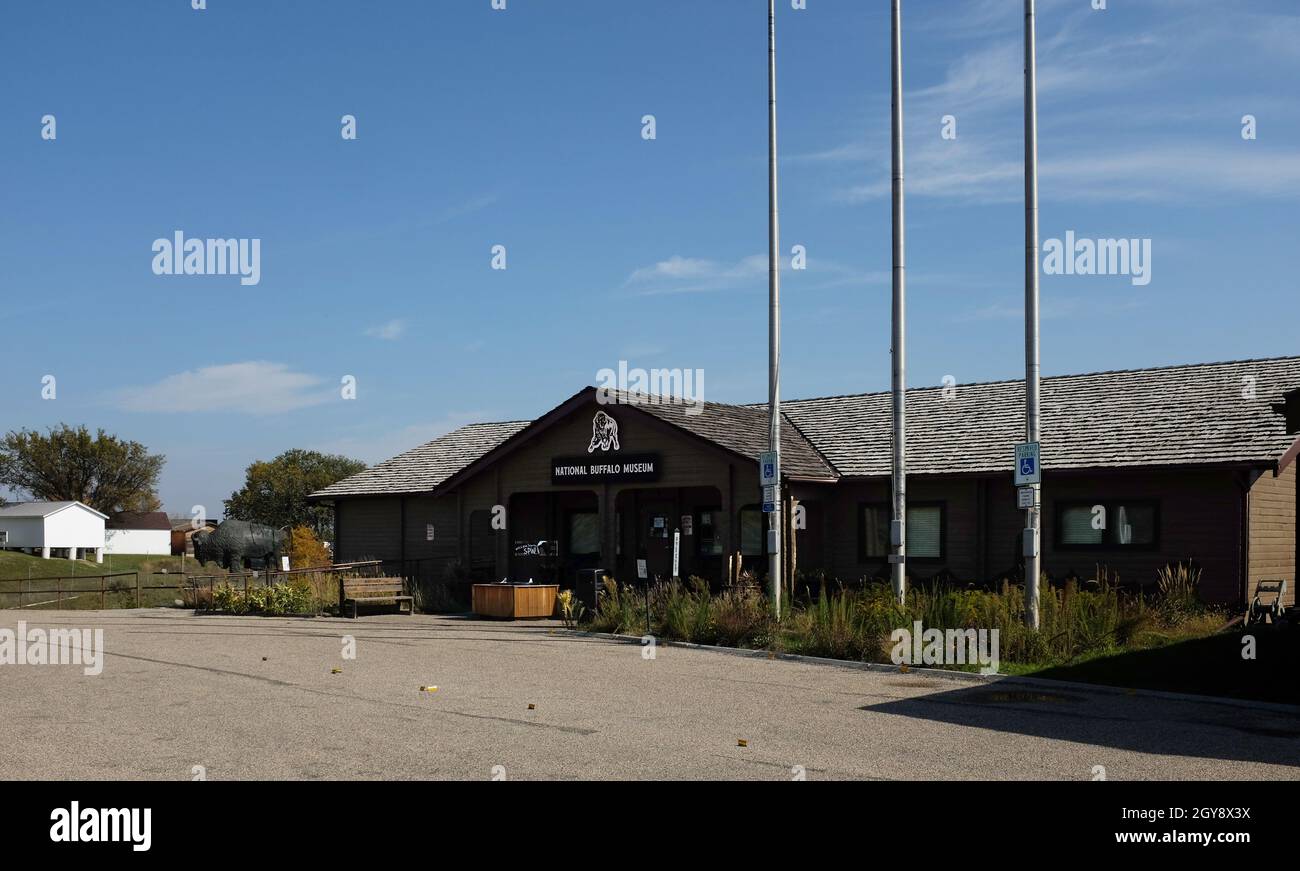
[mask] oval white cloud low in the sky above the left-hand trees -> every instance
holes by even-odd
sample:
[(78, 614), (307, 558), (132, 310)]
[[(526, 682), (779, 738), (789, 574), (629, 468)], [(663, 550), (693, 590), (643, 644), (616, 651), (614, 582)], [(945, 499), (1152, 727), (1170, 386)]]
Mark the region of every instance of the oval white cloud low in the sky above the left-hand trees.
[(282, 363), (251, 360), (204, 367), (151, 385), (125, 387), (112, 400), (126, 411), (273, 415), (329, 402), (337, 394), (317, 376)]

